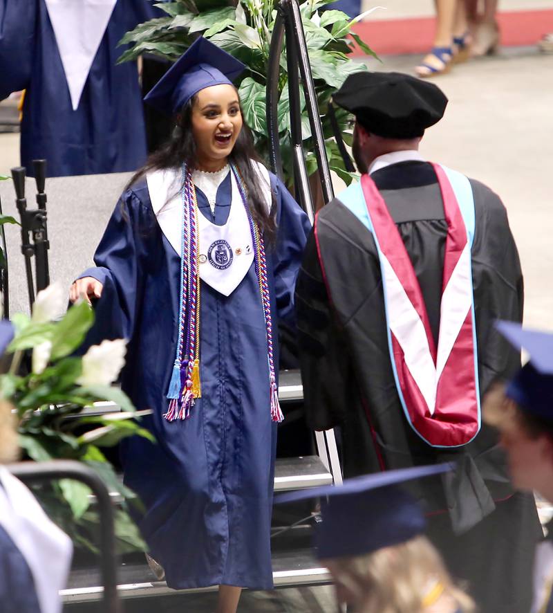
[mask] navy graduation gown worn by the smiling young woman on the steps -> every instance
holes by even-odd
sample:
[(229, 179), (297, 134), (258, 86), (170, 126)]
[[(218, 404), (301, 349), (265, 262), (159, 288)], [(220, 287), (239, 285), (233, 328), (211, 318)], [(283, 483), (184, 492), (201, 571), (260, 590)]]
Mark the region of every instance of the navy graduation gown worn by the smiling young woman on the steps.
[[(277, 317), (292, 318), (309, 223), (282, 183), (271, 179), (279, 226), (274, 247), (268, 246), (276, 326)], [(225, 223), (229, 178), (219, 187), (214, 218), (197, 193), (202, 214)], [(202, 282), (202, 397), (189, 419), (169, 422), (162, 415), (176, 351), (180, 254), (158, 226), (145, 181), (122, 195), (95, 263), (82, 275), (104, 284), (88, 342), (129, 339), (122, 387), (138, 409), (153, 409), (142, 423), (158, 444), (127, 439), (122, 455), (125, 482), (146, 507), (140, 528), (165, 568), (167, 585), (271, 588), (277, 425), (270, 417), (265, 320), (254, 264), (228, 297)]]

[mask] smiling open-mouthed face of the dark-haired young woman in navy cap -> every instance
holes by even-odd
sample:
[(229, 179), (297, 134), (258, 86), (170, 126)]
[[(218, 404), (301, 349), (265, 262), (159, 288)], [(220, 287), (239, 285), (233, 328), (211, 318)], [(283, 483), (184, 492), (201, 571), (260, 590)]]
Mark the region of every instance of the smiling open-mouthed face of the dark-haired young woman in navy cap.
[(191, 113), (198, 167), (213, 172), (227, 163), (242, 129), (238, 93), (232, 85), (206, 87), (196, 94)]

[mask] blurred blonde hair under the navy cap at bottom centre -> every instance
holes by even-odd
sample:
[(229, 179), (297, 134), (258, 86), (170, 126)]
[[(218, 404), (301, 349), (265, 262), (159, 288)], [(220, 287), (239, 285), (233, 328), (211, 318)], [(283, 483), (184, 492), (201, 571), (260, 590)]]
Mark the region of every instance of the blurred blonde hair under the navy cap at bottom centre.
[(453, 585), (440, 554), (424, 536), (366, 556), (332, 560), (332, 574), (353, 594), (359, 613), (420, 613), (432, 582), (463, 613), (474, 612), (473, 601)]

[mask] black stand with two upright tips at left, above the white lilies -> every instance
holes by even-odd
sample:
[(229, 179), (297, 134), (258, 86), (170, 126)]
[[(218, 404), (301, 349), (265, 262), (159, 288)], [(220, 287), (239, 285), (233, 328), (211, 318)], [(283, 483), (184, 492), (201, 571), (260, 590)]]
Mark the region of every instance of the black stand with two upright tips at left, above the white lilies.
[[(46, 176), (46, 161), (33, 161), (35, 179), (37, 181), (37, 209), (28, 209), (25, 197), (25, 175), (24, 167), (12, 168), (12, 179), (17, 196), (16, 204), (21, 218), (21, 253), (25, 257), (25, 271), (27, 277), (27, 288), (29, 295), (29, 305), (35, 302), (35, 282), (32, 278), (31, 258), (35, 256), (35, 281), (36, 291), (45, 289), (50, 284), (50, 273), (48, 269), (48, 234), (46, 230), (46, 194), (44, 193), (44, 182)], [(32, 243), (30, 237), (32, 236)]]

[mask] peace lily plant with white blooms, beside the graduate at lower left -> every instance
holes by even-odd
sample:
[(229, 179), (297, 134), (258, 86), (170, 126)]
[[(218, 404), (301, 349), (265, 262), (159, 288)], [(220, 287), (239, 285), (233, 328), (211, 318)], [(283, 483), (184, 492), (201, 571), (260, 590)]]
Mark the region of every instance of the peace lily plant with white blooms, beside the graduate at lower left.
[[(115, 510), (115, 532), (122, 553), (142, 549), (138, 528), (129, 516), (129, 504), (140, 502), (115, 474), (102, 448), (138, 434), (153, 440), (140, 426), (144, 412), (136, 412), (129, 398), (112, 385), (124, 365), (126, 342), (105, 340), (75, 356), (94, 313), (86, 302), (66, 307), (66, 295), (57, 284), (37, 294), (32, 315), (12, 317), (14, 338), (6, 349), (8, 372), (0, 375), (0, 403), (12, 408), (19, 446), (30, 459), (75, 459), (93, 468), (122, 504)], [(31, 355), (30, 372), (21, 373), (21, 363)], [(86, 415), (84, 407), (113, 401), (120, 411)], [(88, 487), (61, 479), (53, 487), (41, 487), (37, 498), (51, 519), (75, 544), (95, 550), (99, 521)]]

